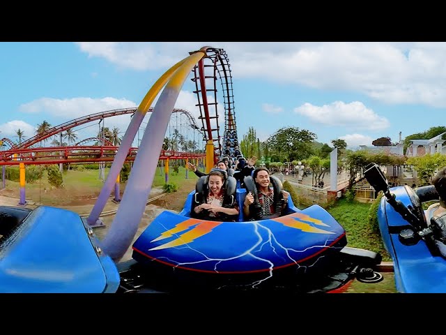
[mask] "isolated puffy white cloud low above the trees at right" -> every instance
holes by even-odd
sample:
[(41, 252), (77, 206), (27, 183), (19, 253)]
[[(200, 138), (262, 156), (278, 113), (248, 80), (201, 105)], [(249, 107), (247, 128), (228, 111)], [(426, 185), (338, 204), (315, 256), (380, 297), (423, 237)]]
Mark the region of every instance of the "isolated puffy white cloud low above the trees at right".
[(382, 130), (390, 126), (385, 117), (380, 117), (359, 101), (353, 101), (352, 103), (334, 101), (330, 105), (321, 107), (305, 103), (296, 107), (294, 112), (328, 126), (344, 126), (372, 131)]

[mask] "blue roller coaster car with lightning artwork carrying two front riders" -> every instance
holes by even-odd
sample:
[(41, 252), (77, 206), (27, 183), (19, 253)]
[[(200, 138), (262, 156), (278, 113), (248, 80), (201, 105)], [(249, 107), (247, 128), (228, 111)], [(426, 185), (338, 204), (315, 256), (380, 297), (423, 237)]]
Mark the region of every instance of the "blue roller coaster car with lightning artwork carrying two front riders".
[[(300, 210), (290, 197), (283, 215), (261, 217), (252, 177), (246, 188), (236, 188), (233, 177), (225, 181), (224, 206), (238, 202), (235, 218), (191, 217), (207, 197), (206, 178), (197, 181), (179, 214), (163, 211), (134, 242), (133, 259), (120, 267), (120, 292), (341, 292), (354, 278), (383, 278), (375, 271), (381, 256), (346, 246), (344, 228), (322, 207)], [(283, 186), (275, 176), (270, 180), (278, 208)], [(247, 190), (255, 194), (254, 221), (243, 216)]]

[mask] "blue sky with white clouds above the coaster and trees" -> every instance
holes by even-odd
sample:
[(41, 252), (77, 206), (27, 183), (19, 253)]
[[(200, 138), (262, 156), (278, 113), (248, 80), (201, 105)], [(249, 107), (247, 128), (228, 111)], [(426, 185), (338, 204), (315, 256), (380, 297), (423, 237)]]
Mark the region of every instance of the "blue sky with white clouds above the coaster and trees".
[[(222, 48), (229, 58), (239, 140), (249, 127), (263, 141), (293, 126), (318, 142), (343, 139), (357, 149), (378, 137), (398, 142), (400, 132), (404, 139), (445, 126), (446, 43), (0, 42), (0, 137), (17, 141), (20, 129), (26, 140), (44, 120), (57, 126), (137, 107), (166, 70), (203, 46)], [(197, 118), (191, 78), (175, 107)], [(150, 113), (139, 137), (148, 119)], [(123, 135), (129, 122), (124, 115), (105, 126)], [(83, 140), (99, 126), (73, 131)]]

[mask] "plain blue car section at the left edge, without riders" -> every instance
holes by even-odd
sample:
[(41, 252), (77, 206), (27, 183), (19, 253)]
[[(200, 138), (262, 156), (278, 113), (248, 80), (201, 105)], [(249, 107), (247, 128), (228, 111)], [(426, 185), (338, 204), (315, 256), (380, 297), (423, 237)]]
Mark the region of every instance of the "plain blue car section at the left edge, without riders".
[(107, 293), (120, 283), (79, 214), (0, 206), (0, 292)]

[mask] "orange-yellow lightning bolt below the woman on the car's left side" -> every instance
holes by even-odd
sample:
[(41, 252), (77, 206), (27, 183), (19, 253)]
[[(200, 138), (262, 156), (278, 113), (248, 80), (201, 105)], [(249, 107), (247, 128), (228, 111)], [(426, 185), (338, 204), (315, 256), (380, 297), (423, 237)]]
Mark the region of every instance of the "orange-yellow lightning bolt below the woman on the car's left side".
[(217, 225), (220, 225), (221, 223), (222, 222), (218, 221), (202, 221), (202, 220), (197, 220), (196, 218), (189, 218), (186, 221), (183, 221), (182, 223), (178, 223), (178, 225), (176, 225), (175, 228), (167, 230), (167, 232), (163, 232), (160, 237), (153, 239), (153, 241), (158, 241), (160, 239), (166, 239), (167, 237), (171, 237), (172, 234), (186, 230), (192, 225), (197, 225), (195, 228), (193, 228), (189, 232), (185, 232), (184, 234), (180, 235), (178, 239), (174, 239), (174, 241), (162, 244), (161, 246), (155, 246), (155, 248), (151, 248), (149, 249), (149, 251), (172, 248), (174, 246), (182, 246), (183, 244), (187, 244), (189, 242), (194, 241), (194, 239), (197, 239), (197, 237), (201, 237), (204, 234), (208, 234), (208, 232), (211, 232), (213, 228), (217, 227)]

